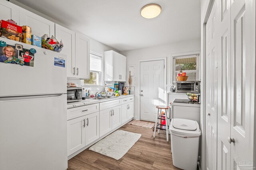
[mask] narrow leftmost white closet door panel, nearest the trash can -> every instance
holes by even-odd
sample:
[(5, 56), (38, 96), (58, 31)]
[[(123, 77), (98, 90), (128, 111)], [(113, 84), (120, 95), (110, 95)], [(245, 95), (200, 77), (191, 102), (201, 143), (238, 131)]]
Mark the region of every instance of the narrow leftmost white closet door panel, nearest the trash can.
[(218, 37), (216, 1), (206, 23), (206, 169), (217, 169)]

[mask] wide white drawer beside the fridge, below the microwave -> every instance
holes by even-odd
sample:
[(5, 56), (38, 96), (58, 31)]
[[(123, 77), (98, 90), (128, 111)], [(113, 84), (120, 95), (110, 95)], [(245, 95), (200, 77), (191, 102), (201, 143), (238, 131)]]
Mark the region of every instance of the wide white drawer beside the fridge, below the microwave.
[(74, 119), (76, 117), (88, 115), (88, 114), (94, 113), (96, 111), (99, 111), (99, 104), (98, 103), (68, 109), (68, 120)]

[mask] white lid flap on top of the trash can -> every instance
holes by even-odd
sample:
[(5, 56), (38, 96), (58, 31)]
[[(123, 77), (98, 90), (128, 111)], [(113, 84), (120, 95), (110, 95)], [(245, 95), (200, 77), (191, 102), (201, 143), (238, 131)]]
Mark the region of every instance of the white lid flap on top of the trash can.
[(187, 131), (196, 130), (196, 121), (189, 119), (173, 119), (173, 127), (176, 129), (182, 129)]

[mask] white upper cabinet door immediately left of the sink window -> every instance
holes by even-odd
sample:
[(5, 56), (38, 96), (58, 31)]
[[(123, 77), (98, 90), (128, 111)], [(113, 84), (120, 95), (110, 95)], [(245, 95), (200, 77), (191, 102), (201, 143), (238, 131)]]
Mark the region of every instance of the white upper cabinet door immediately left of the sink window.
[(76, 77), (90, 78), (90, 40), (76, 33)]

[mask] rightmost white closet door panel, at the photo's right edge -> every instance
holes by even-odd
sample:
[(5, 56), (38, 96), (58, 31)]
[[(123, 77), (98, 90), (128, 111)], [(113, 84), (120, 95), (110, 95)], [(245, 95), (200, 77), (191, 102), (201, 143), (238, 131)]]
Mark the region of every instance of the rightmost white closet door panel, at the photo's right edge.
[(231, 138), (234, 139), (231, 143), (231, 169), (252, 169), (253, 150), (255, 151), (253, 148), (255, 1), (253, 0), (231, 0), (231, 56)]

